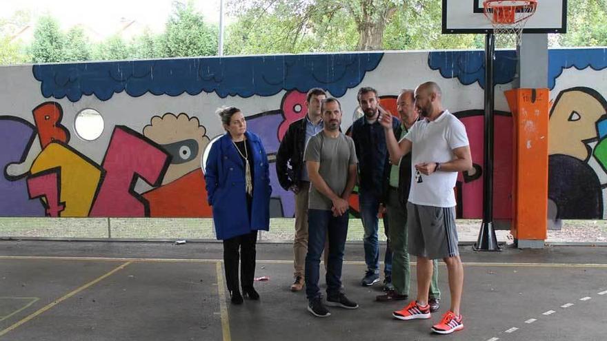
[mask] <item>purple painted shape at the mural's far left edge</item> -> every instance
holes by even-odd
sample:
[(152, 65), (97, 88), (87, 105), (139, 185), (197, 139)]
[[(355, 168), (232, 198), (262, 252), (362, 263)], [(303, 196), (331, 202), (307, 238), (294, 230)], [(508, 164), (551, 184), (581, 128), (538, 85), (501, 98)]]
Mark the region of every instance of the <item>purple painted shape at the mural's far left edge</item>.
[(40, 200), (30, 200), (26, 178), (9, 180), (6, 166), (23, 161), (34, 138), (34, 127), (21, 118), (0, 116), (0, 216), (43, 217)]

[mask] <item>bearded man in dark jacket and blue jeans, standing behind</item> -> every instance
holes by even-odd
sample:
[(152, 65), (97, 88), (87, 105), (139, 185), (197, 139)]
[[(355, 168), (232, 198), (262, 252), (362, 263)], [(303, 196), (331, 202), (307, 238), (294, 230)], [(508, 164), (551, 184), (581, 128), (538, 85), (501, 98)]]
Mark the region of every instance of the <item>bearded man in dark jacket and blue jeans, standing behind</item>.
[[(364, 227), (364, 248), (367, 271), (361, 285), (379, 282), (378, 214), (384, 197), (384, 171), (388, 165), (388, 148), (384, 128), (379, 124), (379, 97), (372, 87), (361, 87), (357, 95), (364, 116), (352, 123), (352, 140), (359, 161), (359, 207)], [(400, 122), (393, 122), (394, 129)], [(389, 224), (388, 224), (389, 225)], [(390, 243), (384, 258), (384, 289), (391, 287), (392, 253)]]

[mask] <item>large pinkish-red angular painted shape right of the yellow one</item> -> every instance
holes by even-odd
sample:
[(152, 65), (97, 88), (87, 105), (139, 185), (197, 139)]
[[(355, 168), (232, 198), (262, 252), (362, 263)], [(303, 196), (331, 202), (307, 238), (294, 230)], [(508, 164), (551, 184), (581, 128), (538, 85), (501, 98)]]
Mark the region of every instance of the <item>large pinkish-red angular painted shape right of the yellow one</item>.
[(159, 185), (169, 157), (145, 136), (117, 126), (112, 134), (103, 169), (106, 173), (90, 216), (148, 216), (148, 202), (134, 192), (137, 178)]

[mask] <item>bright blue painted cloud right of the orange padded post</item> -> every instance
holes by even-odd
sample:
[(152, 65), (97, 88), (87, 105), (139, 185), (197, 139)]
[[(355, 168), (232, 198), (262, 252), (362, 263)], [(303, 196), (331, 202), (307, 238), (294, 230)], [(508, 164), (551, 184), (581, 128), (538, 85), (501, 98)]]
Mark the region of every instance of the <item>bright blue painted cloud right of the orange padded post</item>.
[(555, 87), (557, 78), (564, 69), (593, 70), (607, 68), (607, 48), (576, 48), (548, 50), (548, 87)]

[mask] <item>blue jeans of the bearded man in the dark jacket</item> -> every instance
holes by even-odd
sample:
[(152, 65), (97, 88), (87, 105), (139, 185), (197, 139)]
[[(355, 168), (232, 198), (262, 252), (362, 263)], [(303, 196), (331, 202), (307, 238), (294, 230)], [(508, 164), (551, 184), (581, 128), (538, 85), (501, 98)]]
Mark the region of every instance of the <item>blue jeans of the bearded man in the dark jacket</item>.
[[(359, 207), (361, 220), (365, 229), (363, 237), (365, 247), (365, 262), (367, 269), (379, 273), (379, 238), (377, 236), (378, 221), (377, 211), (379, 211), (379, 198), (374, 194), (364, 191), (359, 192)], [(384, 229), (388, 236), (388, 219), (384, 216)], [(386, 246), (386, 255), (384, 256), (384, 273), (386, 276), (392, 275), (392, 250), (390, 249), (390, 240)]]

